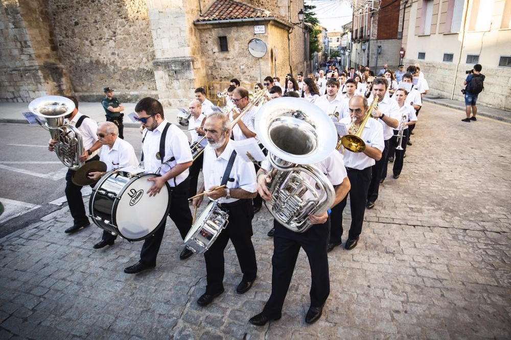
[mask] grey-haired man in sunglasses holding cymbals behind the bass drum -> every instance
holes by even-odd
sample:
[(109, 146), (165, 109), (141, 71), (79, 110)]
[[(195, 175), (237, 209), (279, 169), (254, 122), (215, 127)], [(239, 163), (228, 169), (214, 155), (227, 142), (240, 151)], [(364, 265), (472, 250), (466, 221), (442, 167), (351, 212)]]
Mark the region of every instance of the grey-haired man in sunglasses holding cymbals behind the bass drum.
[[(118, 138), (119, 128), (117, 125), (112, 122), (101, 123), (98, 126), (96, 136), (98, 136), (99, 142), (103, 145), (99, 160), (106, 164), (106, 172), (91, 172), (88, 178), (99, 181), (101, 177), (113, 169), (138, 165), (133, 146), (126, 140)], [(92, 248), (100, 249), (111, 246), (116, 238), (117, 235), (112, 235), (110, 232), (103, 230), (101, 241)]]

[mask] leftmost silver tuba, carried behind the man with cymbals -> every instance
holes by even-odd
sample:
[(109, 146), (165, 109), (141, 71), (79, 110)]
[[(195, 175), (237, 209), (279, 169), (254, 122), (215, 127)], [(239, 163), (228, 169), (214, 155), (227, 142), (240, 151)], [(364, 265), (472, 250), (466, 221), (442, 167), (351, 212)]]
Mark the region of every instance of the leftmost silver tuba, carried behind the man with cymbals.
[(47, 95), (34, 99), (29, 110), (46, 121), (52, 139), (57, 140), (54, 151), (59, 160), (72, 170), (78, 169), (85, 162), (78, 157), (83, 153), (82, 135), (77, 128), (64, 124), (64, 118), (71, 115), (75, 103), (59, 95)]

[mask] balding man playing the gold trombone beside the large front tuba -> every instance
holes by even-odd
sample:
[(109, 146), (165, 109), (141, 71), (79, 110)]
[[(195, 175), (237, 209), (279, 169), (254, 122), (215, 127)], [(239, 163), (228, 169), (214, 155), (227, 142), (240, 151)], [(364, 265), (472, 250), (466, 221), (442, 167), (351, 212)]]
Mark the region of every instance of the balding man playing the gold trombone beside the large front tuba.
[[(340, 120), (340, 124), (345, 125), (348, 133), (360, 129), (360, 124), (364, 120), (365, 114), (369, 109), (367, 99), (361, 95), (355, 95), (349, 102), (349, 117)], [(352, 133), (353, 134), (353, 133)], [(385, 147), (383, 142), (383, 128), (376, 119), (369, 118), (362, 130), (361, 138), (365, 142), (365, 149), (362, 152), (351, 152), (346, 150), (343, 154), (344, 166), (347, 176), (350, 179), (350, 207), (352, 222), (350, 232), (344, 248), (352, 250), (358, 244), (364, 222), (365, 204), (367, 202), (367, 189), (371, 182), (371, 168), (375, 161), (380, 160), (382, 151)], [(330, 229), (330, 243), (327, 251), (332, 251), (336, 246), (342, 244), (342, 212), (346, 206), (347, 196), (335, 207), (332, 208), (330, 215), (332, 227)]]

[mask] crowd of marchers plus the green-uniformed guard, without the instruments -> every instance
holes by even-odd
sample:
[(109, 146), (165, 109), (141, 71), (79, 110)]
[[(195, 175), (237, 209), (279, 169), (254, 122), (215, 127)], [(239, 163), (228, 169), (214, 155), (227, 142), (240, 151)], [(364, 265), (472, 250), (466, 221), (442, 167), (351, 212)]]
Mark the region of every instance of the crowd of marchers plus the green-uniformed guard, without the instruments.
[[(372, 209), (378, 199), (379, 186), (386, 179), (387, 165), (393, 162), (393, 178), (402, 173), (406, 146), (411, 145), (409, 132), (417, 121), (422, 106), (421, 95), (427, 93), (427, 82), (419, 65), (410, 65), (406, 72), (403, 65), (394, 74), (384, 66), (374, 76), (368, 67), (350, 67), (340, 71), (330, 66), (326, 71), (304, 77), (298, 72), (296, 78), (286, 75), (280, 78), (268, 76), (253, 90), (264, 91), (266, 101), (281, 97), (295, 98), (312, 104), (332, 119), (338, 139), (346, 134), (359, 135), (364, 145), (360, 152), (341, 148), (332, 150), (326, 158), (314, 164), (326, 176), (334, 188), (335, 198), (328, 211), (313, 212), (306, 216), (312, 227), (298, 233), (290, 230), (285, 221), (274, 219), (268, 236), (273, 237), (271, 295), (263, 310), (249, 319), (253, 325), (265, 325), (281, 318), (284, 300), (288, 293), (294, 266), (300, 248), (303, 248), (311, 267), (310, 308), (305, 315), (306, 323), (314, 323), (322, 314), (330, 294), (328, 252), (342, 244), (342, 215), (350, 197), (351, 226), (344, 248), (357, 247), (364, 224), (365, 209)], [(184, 241), (192, 229), (192, 211), (189, 198), (195, 195), (192, 207), (198, 208), (204, 198), (228, 213), (228, 224), (214, 243), (204, 252), (206, 287), (197, 304), (207, 306), (224, 292), (224, 250), (230, 240), (236, 250), (242, 278), (236, 287), (238, 294), (246, 293), (257, 279), (256, 249), (252, 243), (252, 218), (262, 208), (263, 201), (272, 200), (268, 189), (270, 154), (255, 129), (255, 120), (264, 101), (251, 101), (249, 89), (232, 79), (225, 91), (225, 106), (221, 112), (206, 98), (203, 88), (195, 90), (195, 99), (189, 104), (191, 140), (182, 129), (171, 124), (165, 116), (161, 103), (147, 97), (136, 104), (135, 119), (141, 124), (142, 158), (140, 165), (149, 173), (160, 176), (149, 178), (150, 197), (169, 195), (169, 216)], [(91, 172), (88, 177), (99, 180), (109, 171), (134, 166), (137, 161), (133, 147), (122, 139), (122, 104), (113, 96), (110, 87), (104, 89), (107, 122), (98, 125), (75, 109), (66, 117), (66, 124), (75, 126), (82, 134), (84, 151), (80, 159), (85, 162), (101, 160), (107, 164), (106, 172)], [(263, 92), (259, 92), (263, 93)], [(413, 133), (412, 133), (413, 134)], [(267, 155), (262, 162), (250, 162), (237, 156), (235, 143), (252, 139)], [(57, 141), (51, 140), (50, 151)], [(193, 156), (190, 145), (201, 144), (203, 152)], [(100, 150), (101, 149), (101, 150)], [(99, 154), (101, 151), (101, 154)], [(199, 188), (200, 171), (203, 182)], [(81, 186), (72, 182), (75, 171), (69, 169), (66, 176), (66, 197), (74, 219), (66, 233), (85, 228), (90, 221), (85, 214)], [(169, 187), (169, 190), (164, 186)], [(145, 213), (145, 212), (144, 212)], [(275, 216), (275, 215), (274, 215)], [(156, 258), (165, 233), (166, 217), (161, 225), (144, 238), (140, 258), (124, 269), (136, 274), (156, 266)], [(104, 230), (95, 249), (113, 246), (117, 235)], [(122, 235), (121, 235), (122, 236)], [(180, 259), (193, 255), (184, 247)]]

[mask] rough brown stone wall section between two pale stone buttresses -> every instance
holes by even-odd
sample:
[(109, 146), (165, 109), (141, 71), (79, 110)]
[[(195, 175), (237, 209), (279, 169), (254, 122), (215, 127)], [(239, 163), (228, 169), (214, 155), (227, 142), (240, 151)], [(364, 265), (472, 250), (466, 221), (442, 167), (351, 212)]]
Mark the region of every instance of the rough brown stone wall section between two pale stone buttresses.
[(157, 97), (146, 0), (49, 0), (62, 63), (81, 101), (111, 86), (123, 102)]

